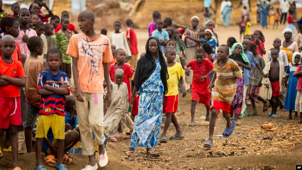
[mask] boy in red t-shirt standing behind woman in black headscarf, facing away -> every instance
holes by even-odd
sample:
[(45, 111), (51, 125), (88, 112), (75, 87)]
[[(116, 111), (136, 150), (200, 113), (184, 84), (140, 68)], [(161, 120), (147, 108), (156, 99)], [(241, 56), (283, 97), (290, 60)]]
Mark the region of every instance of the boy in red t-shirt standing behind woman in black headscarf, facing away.
[(126, 32), (126, 37), (127, 37), (127, 42), (130, 47), (131, 51), (131, 58), (129, 64), (135, 68), (137, 64), (137, 55), (138, 55), (138, 50), (137, 50), (137, 38), (136, 38), (136, 33), (133, 30), (134, 28), (134, 22), (132, 19), (127, 19), (126, 24), (128, 26), (127, 32)]

